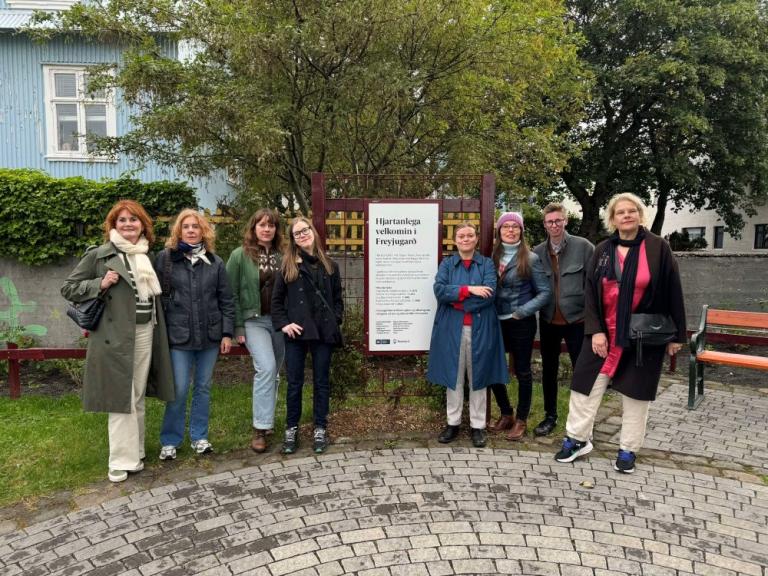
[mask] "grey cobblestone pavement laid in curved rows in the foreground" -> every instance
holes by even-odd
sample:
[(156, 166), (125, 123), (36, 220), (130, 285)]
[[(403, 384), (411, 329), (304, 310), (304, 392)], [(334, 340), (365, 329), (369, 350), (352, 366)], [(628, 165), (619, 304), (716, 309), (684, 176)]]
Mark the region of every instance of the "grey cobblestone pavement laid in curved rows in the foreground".
[(760, 463), (765, 394), (711, 390), (689, 412), (668, 386), (632, 475), (612, 468), (615, 404), (574, 464), (542, 444), (336, 445), (180, 476), (0, 534), (0, 576), (768, 576), (768, 485), (696, 464)]

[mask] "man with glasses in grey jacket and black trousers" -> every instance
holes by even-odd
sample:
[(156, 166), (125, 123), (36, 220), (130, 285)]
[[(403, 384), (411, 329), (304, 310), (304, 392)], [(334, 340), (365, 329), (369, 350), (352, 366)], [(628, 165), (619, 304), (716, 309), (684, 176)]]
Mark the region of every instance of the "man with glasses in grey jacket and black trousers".
[(565, 231), (568, 214), (562, 204), (544, 208), (548, 239), (533, 251), (549, 278), (553, 298), (539, 312), (544, 420), (534, 428), (536, 436), (548, 436), (557, 425), (557, 374), (560, 343), (565, 340), (571, 364), (576, 364), (584, 340), (584, 284), (595, 246), (586, 238)]

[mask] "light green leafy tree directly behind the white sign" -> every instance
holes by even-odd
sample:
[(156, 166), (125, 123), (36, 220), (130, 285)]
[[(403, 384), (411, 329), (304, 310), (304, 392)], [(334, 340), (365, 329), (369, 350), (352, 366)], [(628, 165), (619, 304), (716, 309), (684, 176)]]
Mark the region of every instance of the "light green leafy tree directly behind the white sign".
[[(53, 29), (121, 42), (113, 84), (134, 129), (105, 152), (202, 175), (306, 212), (313, 171), (495, 171), (548, 184), (584, 96), (558, 0), (101, 0)], [(163, 32), (160, 34), (159, 32)], [(169, 54), (168, 41), (190, 47)], [(293, 202), (289, 202), (289, 209)]]

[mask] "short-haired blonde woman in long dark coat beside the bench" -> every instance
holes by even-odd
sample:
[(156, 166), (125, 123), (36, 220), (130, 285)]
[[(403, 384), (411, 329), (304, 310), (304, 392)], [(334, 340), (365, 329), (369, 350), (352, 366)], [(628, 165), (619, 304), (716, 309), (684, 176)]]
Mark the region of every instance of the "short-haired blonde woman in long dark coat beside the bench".
[[(622, 426), (614, 469), (635, 470), (650, 402), (656, 399), (665, 355), (686, 342), (680, 273), (669, 244), (643, 227), (645, 206), (634, 194), (614, 196), (605, 215), (613, 234), (595, 249), (587, 275), (584, 345), (574, 367), (566, 438), (555, 459), (572, 462), (592, 451), (592, 427), (608, 386), (622, 394)], [(661, 346), (629, 339), (632, 314), (672, 319), (676, 336)]]

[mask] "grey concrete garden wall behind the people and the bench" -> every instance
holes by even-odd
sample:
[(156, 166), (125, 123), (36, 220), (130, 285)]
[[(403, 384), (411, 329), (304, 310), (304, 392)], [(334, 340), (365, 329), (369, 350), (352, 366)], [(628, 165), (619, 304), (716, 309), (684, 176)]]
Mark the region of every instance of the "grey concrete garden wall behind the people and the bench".
[[(768, 311), (768, 254), (680, 253), (688, 326), (698, 325), (702, 304), (738, 310)], [(345, 281), (347, 305), (363, 303), (361, 256), (334, 256)], [(30, 327), (43, 346), (73, 346), (80, 331), (66, 316), (59, 294), (77, 261), (42, 267), (0, 259), (0, 325)], [(761, 304), (762, 303), (762, 304)]]

